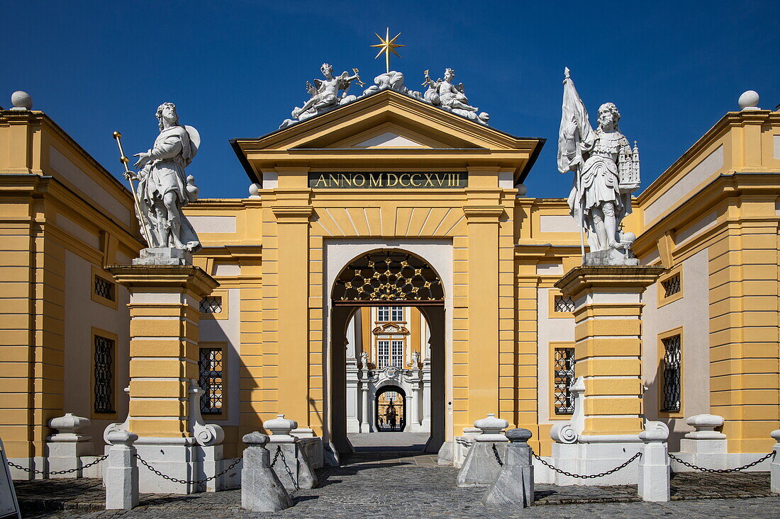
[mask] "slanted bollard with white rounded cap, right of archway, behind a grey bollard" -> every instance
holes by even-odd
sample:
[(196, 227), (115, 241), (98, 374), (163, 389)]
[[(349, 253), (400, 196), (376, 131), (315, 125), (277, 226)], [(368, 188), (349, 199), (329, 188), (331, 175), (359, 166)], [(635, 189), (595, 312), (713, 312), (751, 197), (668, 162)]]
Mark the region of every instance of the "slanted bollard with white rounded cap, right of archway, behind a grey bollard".
[(506, 457), (507, 443), (502, 429), (508, 426), (509, 422), (495, 415), (474, 422), (474, 427), (480, 429), (482, 434), (474, 436), (474, 443), (458, 471), (459, 487), (490, 486), (495, 482), (501, 472), (501, 465), (495, 459), (493, 447), (496, 447), (499, 457)]

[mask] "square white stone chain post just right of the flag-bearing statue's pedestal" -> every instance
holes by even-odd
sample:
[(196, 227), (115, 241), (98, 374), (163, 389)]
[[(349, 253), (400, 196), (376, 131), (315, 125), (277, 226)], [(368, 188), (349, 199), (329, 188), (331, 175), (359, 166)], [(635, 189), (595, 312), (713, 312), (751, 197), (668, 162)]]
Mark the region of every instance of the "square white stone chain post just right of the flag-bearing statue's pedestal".
[(644, 442), (639, 461), (639, 488), (643, 501), (669, 500), (669, 454), (664, 429), (649, 429), (639, 433)]

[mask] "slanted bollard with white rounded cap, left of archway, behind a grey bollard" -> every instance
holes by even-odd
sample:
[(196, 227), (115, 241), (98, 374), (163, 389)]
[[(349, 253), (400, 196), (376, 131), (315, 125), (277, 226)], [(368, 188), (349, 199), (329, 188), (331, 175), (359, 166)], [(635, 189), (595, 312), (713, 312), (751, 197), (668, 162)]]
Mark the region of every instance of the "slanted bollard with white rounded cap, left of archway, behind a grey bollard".
[[(263, 422), (263, 427), (271, 431), (268, 450), (276, 463), (271, 468), (285, 489), (314, 489), (317, 487), (317, 475), (314, 474), (301, 441), (290, 433), (298, 427), (298, 422), (276, 415), (273, 420)], [(279, 452), (276, 457), (277, 451)]]

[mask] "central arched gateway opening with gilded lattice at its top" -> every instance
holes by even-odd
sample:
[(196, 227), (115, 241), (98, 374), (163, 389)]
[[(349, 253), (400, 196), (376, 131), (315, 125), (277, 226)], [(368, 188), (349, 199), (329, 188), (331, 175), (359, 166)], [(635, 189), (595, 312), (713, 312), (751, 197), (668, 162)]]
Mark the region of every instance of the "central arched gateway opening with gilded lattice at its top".
[[(431, 264), (403, 249), (353, 258), (335, 277), (330, 316), (335, 449), (353, 452), (350, 440), (394, 429), (412, 435), (404, 441), (419, 450), (438, 452), (445, 439), (445, 286)], [(382, 399), (390, 392), (399, 396), (395, 427)]]

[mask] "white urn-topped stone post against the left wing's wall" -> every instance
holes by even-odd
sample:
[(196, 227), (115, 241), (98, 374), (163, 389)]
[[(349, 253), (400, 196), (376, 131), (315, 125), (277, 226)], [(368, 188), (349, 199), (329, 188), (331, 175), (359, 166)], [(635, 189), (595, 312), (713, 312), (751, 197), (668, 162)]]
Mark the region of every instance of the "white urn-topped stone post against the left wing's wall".
[(94, 443), (92, 436), (80, 434), (80, 429), (90, 425), (89, 418), (82, 418), (66, 413), (65, 416), (51, 418), (49, 427), (56, 429), (57, 433), (46, 439), (46, 457), (49, 472), (68, 471), (76, 468), (76, 471), (67, 474), (50, 475), (50, 478), (81, 478), (82, 456), (93, 454)]

